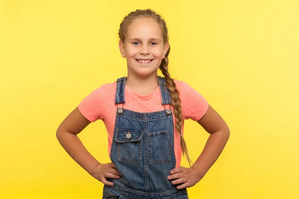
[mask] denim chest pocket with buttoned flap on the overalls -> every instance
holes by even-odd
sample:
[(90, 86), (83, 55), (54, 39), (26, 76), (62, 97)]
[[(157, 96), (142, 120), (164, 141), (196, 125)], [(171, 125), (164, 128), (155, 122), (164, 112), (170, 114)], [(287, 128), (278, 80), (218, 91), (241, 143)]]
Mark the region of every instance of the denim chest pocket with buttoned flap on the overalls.
[(117, 161), (141, 164), (144, 133), (136, 130), (119, 129), (116, 131)]

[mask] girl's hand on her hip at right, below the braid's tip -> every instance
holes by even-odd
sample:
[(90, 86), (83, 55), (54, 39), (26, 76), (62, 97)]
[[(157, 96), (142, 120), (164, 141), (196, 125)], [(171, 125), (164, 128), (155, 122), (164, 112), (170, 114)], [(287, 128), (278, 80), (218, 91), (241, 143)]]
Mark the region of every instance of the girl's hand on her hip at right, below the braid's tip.
[(177, 186), (177, 189), (193, 187), (203, 178), (203, 175), (198, 174), (192, 167), (178, 167), (171, 170), (170, 174), (167, 176), (168, 180), (177, 179), (171, 182), (172, 185), (182, 184)]

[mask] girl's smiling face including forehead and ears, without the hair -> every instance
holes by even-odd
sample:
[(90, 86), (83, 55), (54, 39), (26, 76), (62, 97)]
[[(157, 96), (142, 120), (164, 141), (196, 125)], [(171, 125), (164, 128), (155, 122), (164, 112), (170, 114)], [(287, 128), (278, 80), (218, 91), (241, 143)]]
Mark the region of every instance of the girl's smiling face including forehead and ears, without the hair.
[(125, 43), (120, 41), (119, 48), (127, 59), (128, 76), (149, 76), (156, 74), (169, 44), (164, 44), (162, 30), (154, 19), (139, 18), (129, 25)]

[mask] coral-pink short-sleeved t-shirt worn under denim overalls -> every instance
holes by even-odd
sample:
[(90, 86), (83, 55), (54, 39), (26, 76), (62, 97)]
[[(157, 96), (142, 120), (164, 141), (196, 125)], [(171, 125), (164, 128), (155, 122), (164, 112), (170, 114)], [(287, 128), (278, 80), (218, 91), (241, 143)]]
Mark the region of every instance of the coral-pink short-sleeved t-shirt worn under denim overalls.
[[(192, 119), (194, 121), (199, 120), (208, 109), (208, 102), (205, 100), (196, 90), (191, 88), (183, 81), (174, 80), (176, 89), (179, 91), (179, 97), (181, 100), (183, 120)], [(108, 133), (108, 152), (110, 155), (111, 144), (113, 140), (113, 133), (115, 127), (117, 105), (115, 105), (117, 83), (104, 84), (98, 89), (94, 90), (84, 100), (82, 100), (78, 109), (80, 112), (91, 122), (98, 119), (104, 121)], [(129, 109), (136, 112), (155, 112), (164, 110), (164, 106), (161, 105), (160, 88), (157, 87), (150, 95), (141, 97), (137, 95), (130, 88), (125, 86), (125, 109)], [(122, 105), (119, 105), (122, 107)], [(166, 105), (168, 108), (169, 105)], [(171, 106), (173, 112), (173, 107)], [(172, 113), (173, 114), (173, 113)], [(173, 123), (175, 124), (175, 117), (173, 115)], [(184, 124), (184, 122), (183, 122)], [(174, 125), (175, 126), (175, 125)], [(181, 160), (181, 147), (180, 147), (180, 135), (174, 127), (174, 153), (176, 158), (175, 167), (179, 167)], [(183, 126), (181, 130), (183, 134)]]

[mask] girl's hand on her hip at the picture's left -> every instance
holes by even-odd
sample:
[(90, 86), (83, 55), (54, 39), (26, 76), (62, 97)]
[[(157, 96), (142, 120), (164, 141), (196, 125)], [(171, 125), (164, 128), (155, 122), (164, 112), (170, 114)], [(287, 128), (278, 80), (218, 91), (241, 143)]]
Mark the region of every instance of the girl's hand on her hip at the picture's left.
[(96, 167), (95, 174), (93, 175), (98, 181), (104, 183), (108, 186), (113, 186), (114, 184), (107, 181), (106, 178), (115, 178), (120, 179), (121, 173), (117, 170), (115, 164), (113, 162), (107, 164), (99, 164)]

